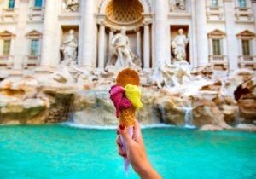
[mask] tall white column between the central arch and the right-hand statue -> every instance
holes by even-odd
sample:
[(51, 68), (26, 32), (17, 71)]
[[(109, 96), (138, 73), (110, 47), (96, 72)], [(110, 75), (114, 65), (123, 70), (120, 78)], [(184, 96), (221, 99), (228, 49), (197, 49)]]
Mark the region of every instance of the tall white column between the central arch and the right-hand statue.
[(155, 60), (160, 62), (160, 66), (163, 66), (166, 61), (166, 23), (168, 8), (168, 1), (157, 0), (155, 2)]

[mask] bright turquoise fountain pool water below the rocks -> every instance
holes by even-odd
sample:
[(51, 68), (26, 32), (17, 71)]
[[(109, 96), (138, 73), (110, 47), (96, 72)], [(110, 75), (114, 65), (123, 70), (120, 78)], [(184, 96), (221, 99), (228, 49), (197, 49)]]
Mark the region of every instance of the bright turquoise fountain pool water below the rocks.
[[(1, 179), (126, 178), (115, 130), (21, 125), (1, 126), (0, 135)], [(255, 133), (162, 128), (143, 136), (164, 178), (256, 178)]]

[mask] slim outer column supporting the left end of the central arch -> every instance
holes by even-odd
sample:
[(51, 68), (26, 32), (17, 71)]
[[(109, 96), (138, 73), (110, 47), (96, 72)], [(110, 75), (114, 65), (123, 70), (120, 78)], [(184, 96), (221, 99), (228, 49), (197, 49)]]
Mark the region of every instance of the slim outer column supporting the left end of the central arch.
[(104, 68), (105, 63), (105, 26), (104, 23), (101, 22), (99, 24), (100, 26), (100, 34), (99, 34), (99, 51), (98, 51), (98, 67)]

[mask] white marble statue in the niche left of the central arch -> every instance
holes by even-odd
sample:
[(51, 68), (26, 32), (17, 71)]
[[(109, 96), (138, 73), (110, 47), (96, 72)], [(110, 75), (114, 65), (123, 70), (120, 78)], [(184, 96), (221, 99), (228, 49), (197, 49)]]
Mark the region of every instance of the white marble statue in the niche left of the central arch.
[(61, 45), (61, 51), (64, 55), (64, 61), (77, 61), (78, 39), (75, 37), (73, 29), (69, 31), (69, 35), (65, 38)]

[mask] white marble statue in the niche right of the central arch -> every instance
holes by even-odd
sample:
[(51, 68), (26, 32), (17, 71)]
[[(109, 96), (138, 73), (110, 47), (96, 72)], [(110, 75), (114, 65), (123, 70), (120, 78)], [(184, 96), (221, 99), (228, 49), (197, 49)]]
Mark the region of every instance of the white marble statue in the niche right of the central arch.
[(183, 29), (179, 29), (179, 34), (172, 40), (172, 51), (175, 61), (186, 60), (186, 46), (189, 43), (189, 38), (183, 32)]

